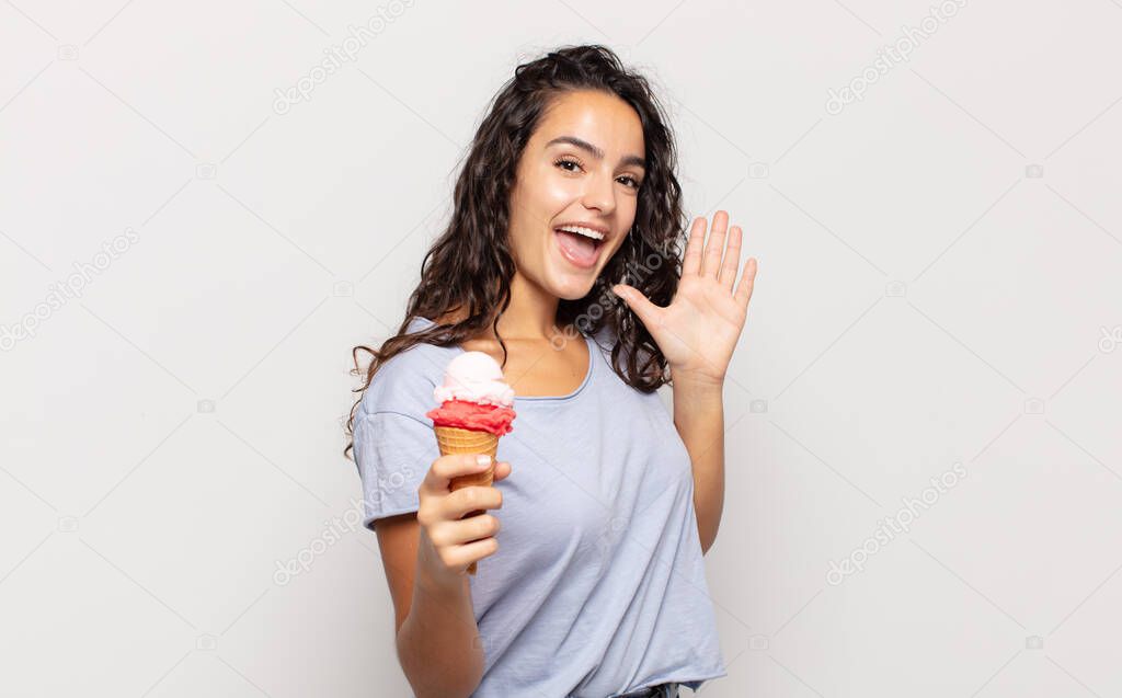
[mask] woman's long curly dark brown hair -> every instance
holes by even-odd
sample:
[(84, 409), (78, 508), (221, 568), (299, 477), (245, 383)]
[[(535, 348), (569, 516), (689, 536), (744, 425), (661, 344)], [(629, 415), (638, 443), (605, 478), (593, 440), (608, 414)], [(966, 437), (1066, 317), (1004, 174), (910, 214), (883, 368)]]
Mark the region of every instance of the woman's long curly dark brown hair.
[[(589, 336), (608, 328), (615, 336), (611, 365), (628, 385), (652, 393), (671, 383), (666, 360), (643, 323), (610, 291), (628, 283), (659, 305), (673, 299), (681, 277), (681, 247), (688, 224), (675, 176), (677, 147), (669, 118), (650, 83), (624, 68), (618, 56), (600, 45), (563, 46), (518, 65), (503, 85), (472, 139), (453, 194), (451, 221), (421, 265), (421, 282), (410, 296), (405, 320), (380, 350), (355, 347), (351, 375), (362, 375), (358, 352), (371, 355), (366, 380), (352, 392), (359, 398), (347, 420), (348, 444), (353, 448), (353, 423), (361, 394), (378, 368), (419, 343), (458, 346), (490, 325), (498, 336), (498, 319), (511, 303), (515, 264), (508, 239), (509, 194), (518, 160), (543, 113), (564, 93), (598, 90), (627, 102), (643, 126), (646, 172), (638, 191), (635, 221), (592, 290), (582, 299), (561, 299), (557, 322)], [(440, 323), (447, 313), (467, 310), (456, 323)], [(436, 322), (407, 333), (417, 316)], [(503, 364), (506, 364), (506, 345)], [(623, 359), (623, 369), (620, 367)]]

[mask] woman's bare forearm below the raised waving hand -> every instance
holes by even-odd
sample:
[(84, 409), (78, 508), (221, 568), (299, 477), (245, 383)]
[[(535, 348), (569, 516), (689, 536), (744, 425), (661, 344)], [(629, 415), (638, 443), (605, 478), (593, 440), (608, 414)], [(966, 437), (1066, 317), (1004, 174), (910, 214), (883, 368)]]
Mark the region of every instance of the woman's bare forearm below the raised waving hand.
[(724, 386), (674, 380), (674, 426), (693, 468), (693, 508), (705, 553), (717, 539), (725, 506)]

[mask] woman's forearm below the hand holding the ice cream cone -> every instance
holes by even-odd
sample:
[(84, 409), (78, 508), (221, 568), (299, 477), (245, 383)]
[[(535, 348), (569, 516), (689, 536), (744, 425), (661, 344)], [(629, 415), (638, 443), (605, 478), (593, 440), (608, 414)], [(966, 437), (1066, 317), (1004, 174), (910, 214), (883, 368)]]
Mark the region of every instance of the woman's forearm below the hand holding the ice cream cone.
[(397, 633), (397, 656), (417, 698), (467, 698), (484, 673), (484, 650), (468, 578), (442, 588), (417, 570), (410, 614)]

